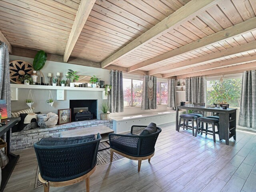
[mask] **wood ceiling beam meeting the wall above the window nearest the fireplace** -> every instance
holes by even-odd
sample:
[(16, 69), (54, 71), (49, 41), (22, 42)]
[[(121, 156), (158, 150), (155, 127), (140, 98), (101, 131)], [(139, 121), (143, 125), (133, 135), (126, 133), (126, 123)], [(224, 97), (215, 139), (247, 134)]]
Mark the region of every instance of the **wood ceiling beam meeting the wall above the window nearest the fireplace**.
[(161, 54), (159, 56), (156, 56), (144, 62), (138, 63), (134, 66), (131, 66), (128, 68), (128, 72), (132, 72), (134, 70), (141, 69), (151, 64), (155, 64), (157, 62), (160, 62), (175, 56), (180, 56), (182, 54), (186, 54), (188, 52), (198, 50), (200, 48), (210, 46), (218, 42), (222, 42), (225, 39), (233, 38), (233, 37), (245, 34), (247, 32), (251, 32), (252, 30), (255, 30), (255, 29), (256, 29), (256, 17), (246, 20), (244, 22), (241, 22), (239, 24), (236, 24), (234, 26), (231, 26), (229, 28), (226, 28), (224, 30), (221, 30), (219, 32), (216, 32), (214, 34), (211, 34), (209, 36), (206, 36), (200, 40), (194, 41), (192, 43), (186, 44), (174, 50), (168, 51), (164, 54)]

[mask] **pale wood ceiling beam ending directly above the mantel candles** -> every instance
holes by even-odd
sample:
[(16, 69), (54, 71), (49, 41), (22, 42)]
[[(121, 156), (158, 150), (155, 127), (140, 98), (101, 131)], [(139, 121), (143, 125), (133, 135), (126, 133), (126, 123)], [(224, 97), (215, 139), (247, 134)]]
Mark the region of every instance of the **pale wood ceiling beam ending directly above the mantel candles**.
[(94, 6), (96, 0), (81, 0), (80, 5), (78, 7), (78, 11), (76, 13), (76, 18), (74, 20), (74, 24), (72, 26), (72, 30), (70, 32), (68, 42), (64, 52), (64, 62), (68, 62), (68, 58), (78, 40), (78, 37), (84, 27), (84, 24)]

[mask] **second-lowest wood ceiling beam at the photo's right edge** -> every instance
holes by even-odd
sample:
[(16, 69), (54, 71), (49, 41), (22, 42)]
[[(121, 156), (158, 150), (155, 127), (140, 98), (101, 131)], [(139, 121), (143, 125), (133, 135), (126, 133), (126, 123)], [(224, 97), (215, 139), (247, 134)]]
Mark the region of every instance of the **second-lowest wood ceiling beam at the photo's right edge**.
[(180, 71), (166, 73), (166, 74), (163, 74), (163, 77), (167, 78), (167, 77), (183, 75), (183, 74), (188, 74), (188, 73), (193, 73), (193, 72), (198, 72), (198, 71), (204, 71), (204, 70), (209, 70), (209, 69), (214, 69), (214, 68), (219, 68), (219, 67), (244, 63), (244, 62), (250, 62), (250, 61), (255, 61), (255, 60), (256, 60), (256, 55), (239, 57), (239, 58), (235, 58), (232, 60), (225, 60), (225, 61), (220, 61), (220, 62), (216, 62), (216, 63), (205, 64), (203, 66), (196, 66), (194, 68), (189, 68), (189, 69), (184, 69), (184, 70), (180, 70)]

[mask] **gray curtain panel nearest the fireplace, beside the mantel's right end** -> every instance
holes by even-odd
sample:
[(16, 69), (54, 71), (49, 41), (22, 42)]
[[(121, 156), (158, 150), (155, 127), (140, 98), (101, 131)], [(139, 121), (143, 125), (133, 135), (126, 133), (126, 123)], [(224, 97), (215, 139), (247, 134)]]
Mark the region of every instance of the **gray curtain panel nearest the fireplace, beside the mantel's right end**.
[(124, 112), (123, 72), (110, 70), (110, 113)]

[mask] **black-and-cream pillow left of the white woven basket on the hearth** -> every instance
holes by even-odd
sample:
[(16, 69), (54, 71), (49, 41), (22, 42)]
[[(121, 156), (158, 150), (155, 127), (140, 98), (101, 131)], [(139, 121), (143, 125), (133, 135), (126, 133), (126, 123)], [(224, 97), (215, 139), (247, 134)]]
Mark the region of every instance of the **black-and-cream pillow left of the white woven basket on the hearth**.
[(37, 113), (24, 113), (20, 114), (20, 130), (30, 130), (37, 127), (37, 115), (40, 114), (40, 112)]

